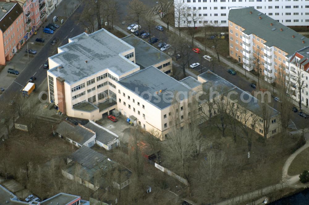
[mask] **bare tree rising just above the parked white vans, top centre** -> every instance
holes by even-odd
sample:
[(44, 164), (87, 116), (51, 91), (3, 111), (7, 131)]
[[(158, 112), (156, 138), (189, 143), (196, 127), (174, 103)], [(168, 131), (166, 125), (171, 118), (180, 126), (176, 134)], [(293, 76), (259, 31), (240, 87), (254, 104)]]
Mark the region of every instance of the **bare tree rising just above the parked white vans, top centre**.
[(139, 0), (132, 0), (129, 2), (128, 5), (128, 15), (129, 18), (135, 21), (139, 26), (141, 25), (141, 19), (146, 15), (148, 9), (147, 6), (139, 1)]

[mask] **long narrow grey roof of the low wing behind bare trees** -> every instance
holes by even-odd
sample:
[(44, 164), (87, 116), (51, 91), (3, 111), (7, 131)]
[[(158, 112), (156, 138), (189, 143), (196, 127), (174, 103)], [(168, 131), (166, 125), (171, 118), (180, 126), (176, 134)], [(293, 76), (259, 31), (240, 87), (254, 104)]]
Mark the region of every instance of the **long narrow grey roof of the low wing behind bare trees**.
[[(254, 96), (252, 96), (251, 94), (249, 94), (248, 92), (231, 84), (230, 82), (216, 75), (210, 70), (206, 71), (205, 73), (202, 73), (199, 76), (202, 77), (204, 80), (206, 80), (203, 86), (204, 87), (206, 86), (207, 89), (209, 87), (213, 87), (213, 92), (218, 91), (219, 94), (223, 94), (223, 95), (227, 95), (228, 93), (232, 91), (236, 92), (237, 94), (234, 93), (229, 96), (231, 100), (237, 100), (237, 103), (243, 106), (244, 108), (248, 109), (249, 111), (253, 112), (254, 114), (260, 117), (262, 116), (262, 114), (260, 113), (261, 111), (260, 103), (259, 103), (260, 101)], [(269, 108), (272, 111), (271, 116), (279, 114), (279, 112), (275, 110), (273, 107), (269, 106)]]

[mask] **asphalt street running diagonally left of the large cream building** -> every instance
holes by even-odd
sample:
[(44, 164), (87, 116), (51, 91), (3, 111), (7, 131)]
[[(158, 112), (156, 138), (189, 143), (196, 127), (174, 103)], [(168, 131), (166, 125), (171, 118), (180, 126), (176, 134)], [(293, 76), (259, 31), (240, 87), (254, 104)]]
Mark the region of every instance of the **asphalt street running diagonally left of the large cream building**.
[[(77, 36), (84, 32), (84, 27), (78, 25), (77, 21), (75, 20), (78, 19), (78, 16), (83, 11), (83, 7), (83, 4), (81, 4), (75, 10), (75, 12), (66, 20), (66, 22), (55, 31), (54, 34), (43, 34), (44, 39), (48, 38), (48, 36), (51, 35), (50, 40), (45, 40), (45, 45), (40, 50), (40, 52), (35, 54), (35, 57), (28, 64), (28, 66), (18, 75), (14, 82), (0, 96), (1, 103), (9, 102), (10, 98), (12, 98), (14, 94), (16, 95), (17, 93), (19, 93), (19, 91), (27, 84), (29, 78), (32, 76), (36, 77), (36, 87), (40, 86), (40, 84), (47, 77), (47, 69), (44, 69), (43, 65), (46, 61), (48, 61), (48, 57), (57, 54), (57, 47), (67, 44), (69, 38)], [(56, 23), (60, 24), (59, 20)], [(44, 36), (46, 36), (46, 38)], [(58, 42), (56, 45), (51, 45), (50, 42), (55, 37), (58, 39)], [(32, 36), (32, 38), (27, 42), (35, 42), (35, 39), (36, 37)], [(27, 46), (23, 46), (22, 50), (18, 53), (18, 55), (24, 55), (26, 49)]]

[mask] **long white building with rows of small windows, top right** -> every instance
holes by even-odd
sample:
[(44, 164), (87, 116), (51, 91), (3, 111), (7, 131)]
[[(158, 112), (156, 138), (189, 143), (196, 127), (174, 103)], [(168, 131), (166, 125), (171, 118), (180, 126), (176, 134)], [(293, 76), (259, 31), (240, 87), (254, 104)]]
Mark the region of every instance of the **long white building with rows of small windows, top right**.
[(246, 0), (174, 0), (176, 10), (179, 5), (177, 2), (183, 2), (182, 7), (185, 8), (185, 13), (190, 15), (182, 19), (181, 26), (183, 27), (193, 26), (193, 20), (196, 21), (197, 27), (205, 23), (227, 27), (229, 11), (239, 7), (259, 10), (286, 26), (307, 26), (309, 24), (309, 2), (307, 0), (248, 0), (248, 2)]

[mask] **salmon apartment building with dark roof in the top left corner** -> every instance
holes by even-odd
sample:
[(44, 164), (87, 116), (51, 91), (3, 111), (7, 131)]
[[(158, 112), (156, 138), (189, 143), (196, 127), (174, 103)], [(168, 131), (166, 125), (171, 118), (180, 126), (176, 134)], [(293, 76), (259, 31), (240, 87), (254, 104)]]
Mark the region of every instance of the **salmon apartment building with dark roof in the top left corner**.
[(6, 65), (25, 43), (23, 10), (16, 2), (0, 2), (0, 65)]

